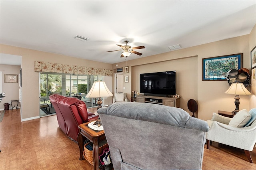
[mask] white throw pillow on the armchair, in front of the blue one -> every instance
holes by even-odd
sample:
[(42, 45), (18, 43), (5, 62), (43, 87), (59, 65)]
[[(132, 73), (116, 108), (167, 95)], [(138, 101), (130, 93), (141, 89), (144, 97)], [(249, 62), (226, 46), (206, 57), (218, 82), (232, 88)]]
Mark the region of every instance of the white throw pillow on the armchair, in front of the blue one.
[(250, 113), (246, 109), (243, 109), (234, 115), (228, 125), (232, 127), (244, 127), (250, 121), (251, 117)]

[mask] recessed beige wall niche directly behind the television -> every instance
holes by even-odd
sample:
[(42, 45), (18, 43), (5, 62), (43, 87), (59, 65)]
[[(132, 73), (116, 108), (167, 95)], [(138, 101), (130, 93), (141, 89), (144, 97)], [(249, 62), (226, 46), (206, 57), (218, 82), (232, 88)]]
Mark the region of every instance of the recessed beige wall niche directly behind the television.
[(181, 97), (180, 107), (189, 113), (187, 101), (197, 99), (197, 69), (197, 57), (134, 66), (131, 76), (132, 90), (140, 91), (140, 73), (176, 71), (176, 93)]

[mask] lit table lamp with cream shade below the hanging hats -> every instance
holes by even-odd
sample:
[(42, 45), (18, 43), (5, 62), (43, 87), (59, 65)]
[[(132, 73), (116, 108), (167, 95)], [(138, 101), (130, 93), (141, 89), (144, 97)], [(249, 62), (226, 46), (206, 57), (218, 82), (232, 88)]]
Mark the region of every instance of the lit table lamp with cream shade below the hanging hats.
[(236, 105), (236, 109), (234, 111), (232, 111), (232, 114), (235, 115), (236, 113), (238, 113), (239, 111), (239, 104), (240, 104), (240, 97), (239, 95), (251, 95), (252, 93), (250, 93), (245, 87), (243, 83), (232, 83), (230, 85), (230, 87), (228, 88), (227, 91), (225, 91), (225, 93), (227, 94), (232, 94), (232, 95), (236, 95), (235, 96), (235, 105)]

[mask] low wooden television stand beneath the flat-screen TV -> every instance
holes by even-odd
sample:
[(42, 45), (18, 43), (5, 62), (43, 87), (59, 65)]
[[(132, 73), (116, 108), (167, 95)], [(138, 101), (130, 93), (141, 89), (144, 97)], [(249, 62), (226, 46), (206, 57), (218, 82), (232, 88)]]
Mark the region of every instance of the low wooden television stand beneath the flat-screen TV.
[(145, 96), (137, 95), (136, 102), (153, 103), (170, 107), (180, 107), (180, 97), (160, 97), (160, 96)]

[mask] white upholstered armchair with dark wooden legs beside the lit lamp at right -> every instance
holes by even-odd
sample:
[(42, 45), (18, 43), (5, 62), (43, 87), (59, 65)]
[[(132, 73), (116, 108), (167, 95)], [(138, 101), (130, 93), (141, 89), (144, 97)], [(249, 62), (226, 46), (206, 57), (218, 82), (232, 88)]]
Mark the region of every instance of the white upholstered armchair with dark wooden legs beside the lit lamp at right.
[[(212, 140), (218, 143), (244, 149), (249, 162), (253, 163), (250, 151), (253, 150), (256, 143), (256, 109), (251, 109), (248, 113), (250, 114), (249, 122), (245, 123), (245, 126), (241, 125), (241, 122), (238, 123), (238, 126), (240, 127), (234, 127), (230, 122), (232, 119), (232, 122), (234, 122), (235, 117), (228, 118), (221, 115), (213, 115), (212, 119), (207, 121), (210, 127), (209, 131), (206, 132), (207, 148), (210, 148), (210, 140)], [(247, 118), (243, 117), (242, 119)]]

